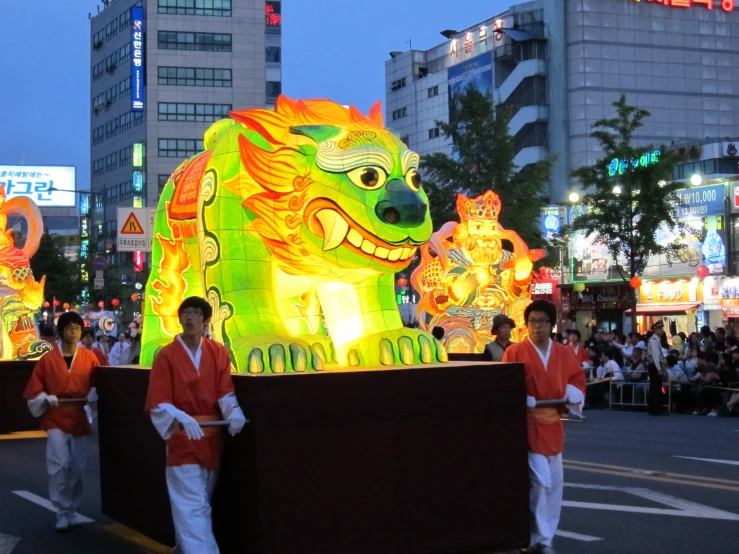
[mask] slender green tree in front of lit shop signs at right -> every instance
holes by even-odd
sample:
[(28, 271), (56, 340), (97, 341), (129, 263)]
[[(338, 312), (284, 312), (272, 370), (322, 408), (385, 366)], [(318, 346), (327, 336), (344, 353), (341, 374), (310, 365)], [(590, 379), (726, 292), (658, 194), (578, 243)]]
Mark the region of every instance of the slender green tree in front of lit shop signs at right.
[[(603, 152), (592, 166), (572, 172), (586, 192), (585, 213), (563, 230), (592, 235), (594, 241), (608, 247), (614, 263), (625, 260), (621, 277), (628, 282), (641, 275), (650, 256), (666, 255), (675, 259), (684, 244), (681, 239), (658, 242), (656, 231), (664, 225), (673, 236), (683, 237), (687, 227), (678, 221), (680, 198), (676, 194), (684, 183), (670, 182), (678, 156), (663, 147), (659, 155), (654, 146), (635, 146), (634, 132), (651, 114), (630, 106), (621, 96), (613, 103), (617, 115), (593, 124), (591, 137)], [(631, 324), (636, 330), (636, 291), (631, 290)]]

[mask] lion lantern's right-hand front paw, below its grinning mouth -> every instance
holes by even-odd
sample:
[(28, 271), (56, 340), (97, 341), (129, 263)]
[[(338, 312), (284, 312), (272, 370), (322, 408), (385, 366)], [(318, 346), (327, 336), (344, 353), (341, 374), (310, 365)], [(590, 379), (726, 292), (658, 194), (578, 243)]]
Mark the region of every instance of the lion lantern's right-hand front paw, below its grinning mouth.
[(349, 366), (413, 365), (446, 362), (446, 350), (433, 335), (418, 329), (384, 331), (347, 344)]

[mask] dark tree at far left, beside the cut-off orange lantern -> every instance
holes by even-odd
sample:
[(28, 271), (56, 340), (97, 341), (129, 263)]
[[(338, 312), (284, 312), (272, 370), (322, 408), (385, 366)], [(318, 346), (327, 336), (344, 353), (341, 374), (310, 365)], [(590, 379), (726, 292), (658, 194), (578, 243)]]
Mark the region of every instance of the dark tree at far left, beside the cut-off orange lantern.
[(31, 271), (36, 280), (46, 275), (44, 297), (51, 302), (75, 304), (81, 292), (80, 268), (64, 256), (64, 239), (47, 229), (41, 236), (38, 251), (31, 257)]

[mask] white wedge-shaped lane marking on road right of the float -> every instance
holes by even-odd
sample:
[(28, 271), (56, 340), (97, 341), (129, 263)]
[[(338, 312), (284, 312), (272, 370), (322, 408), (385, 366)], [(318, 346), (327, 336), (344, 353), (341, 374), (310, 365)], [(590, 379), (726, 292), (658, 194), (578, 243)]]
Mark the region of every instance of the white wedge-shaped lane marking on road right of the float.
[(670, 496), (669, 494), (663, 494), (661, 492), (653, 491), (650, 489), (644, 489), (640, 487), (612, 487), (608, 485), (589, 485), (583, 483), (565, 483), (565, 487), (577, 488), (577, 489), (594, 489), (602, 491), (617, 491), (625, 492), (644, 500), (649, 500), (656, 504), (663, 504), (669, 506), (671, 509), (665, 508), (651, 508), (646, 506), (625, 506), (621, 504), (602, 504), (595, 502), (575, 502), (571, 500), (565, 500), (562, 502), (562, 506), (569, 508), (587, 508), (591, 510), (606, 510), (612, 512), (631, 512), (639, 514), (653, 514), (653, 515), (669, 515), (678, 517), (694, 517), (701, 519), (720, 519), (725, 521), (739, 521), (739, 515), (718, 508), (712, 508), (704, 504), (698, 504), (697, 502), (691, 502), (689, 500), (683, 500), (676, 496)]

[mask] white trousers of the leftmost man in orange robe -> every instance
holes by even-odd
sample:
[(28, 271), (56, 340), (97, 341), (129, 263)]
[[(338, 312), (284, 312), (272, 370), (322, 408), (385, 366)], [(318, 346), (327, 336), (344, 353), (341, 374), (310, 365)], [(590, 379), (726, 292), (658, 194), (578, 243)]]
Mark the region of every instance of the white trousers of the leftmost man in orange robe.
[(46, 441), (46, 470), (49, 498), (59, 515), (77, 511), (82, 499), (82, 474), (87, 462), (87, 437), (75, 437), (60, 429), (49, 429)]

